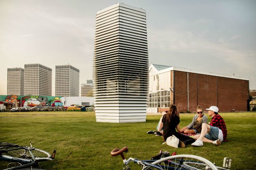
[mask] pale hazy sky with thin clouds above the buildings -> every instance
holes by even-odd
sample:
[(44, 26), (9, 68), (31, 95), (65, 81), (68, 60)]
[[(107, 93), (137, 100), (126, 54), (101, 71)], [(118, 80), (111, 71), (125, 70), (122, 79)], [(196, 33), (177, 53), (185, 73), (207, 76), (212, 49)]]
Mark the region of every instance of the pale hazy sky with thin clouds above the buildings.
[[(0, 0), (0, 95), (7, 68), (71, 64), (92, 79), (96, 12), (114, 0)], [(122, 0), (146, 10), (149, 64), (250, 79), (256, 89), (256, 0)]]

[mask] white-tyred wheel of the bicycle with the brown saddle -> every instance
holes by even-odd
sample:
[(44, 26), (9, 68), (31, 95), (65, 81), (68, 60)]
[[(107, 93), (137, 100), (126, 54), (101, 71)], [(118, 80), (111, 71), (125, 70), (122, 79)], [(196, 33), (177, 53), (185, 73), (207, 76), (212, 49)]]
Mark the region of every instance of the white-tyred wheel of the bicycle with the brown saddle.
[[(191, 164), (192, 162), (192, 164)], [(159, 159), (152, 163), (163, 170), (218, 170), (216, 166), (205, 158), (195, 155), (175, 155)], [(146, 170), (158, 168), (147, 167)]]

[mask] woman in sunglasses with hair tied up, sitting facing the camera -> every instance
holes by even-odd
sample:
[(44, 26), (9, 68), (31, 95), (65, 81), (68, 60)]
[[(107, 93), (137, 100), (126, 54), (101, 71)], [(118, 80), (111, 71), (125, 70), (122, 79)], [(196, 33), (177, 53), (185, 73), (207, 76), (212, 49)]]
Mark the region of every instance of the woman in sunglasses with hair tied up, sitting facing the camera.
[(204, 109), (201, 106), (197, 106), (197, 114), (194, 115), (192, 122), (180, 129), (180, 133), (191, 133), (198, 134), (201, 133), (201, 128), (203, 123), (208, 122), (208, 118), (204, 115)]

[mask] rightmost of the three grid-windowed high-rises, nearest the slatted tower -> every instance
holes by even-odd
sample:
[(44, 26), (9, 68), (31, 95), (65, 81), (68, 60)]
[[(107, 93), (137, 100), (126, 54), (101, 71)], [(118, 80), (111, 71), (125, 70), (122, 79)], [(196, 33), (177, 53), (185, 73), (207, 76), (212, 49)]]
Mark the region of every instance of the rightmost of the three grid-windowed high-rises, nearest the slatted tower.
[(55, 95), (79, 96), (79, 69), (72, 65), (55, 66)]

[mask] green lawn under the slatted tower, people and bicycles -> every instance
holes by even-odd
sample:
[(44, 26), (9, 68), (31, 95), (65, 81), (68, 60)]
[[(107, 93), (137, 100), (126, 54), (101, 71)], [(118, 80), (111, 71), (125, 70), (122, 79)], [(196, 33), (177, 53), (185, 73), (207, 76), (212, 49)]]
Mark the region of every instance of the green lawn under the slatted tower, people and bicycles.
[[(181, 127), (192, 121), (194, 114), (180, 114)], [(193, 154), (222, 166), (223, 158), (232, 158), (232, 170), (256, 167), (256, 113), (220, 113), (228, 129), (229, 142), (216, 146), (187, 146), (184, 149), (162, 145), (162, 137), (148, 135), (155, 130), (161, 115), (147, 115), (144, 123), (97, 123), (94, 112), (0, 112), (0, 142), (10, 142), (43, 149), (54, 161), (40, 163), (47, 170), (121, 170), (121, 157), (112, 157), (112, 149), (129, 147), (126, 158), (149, 159), (163, 151)], [(208, 117), (210, 120), (210, 117)], [(130, 163), (132, 170), (139, 166)], [(6, 163), (0, 161), (0, 169)]]

